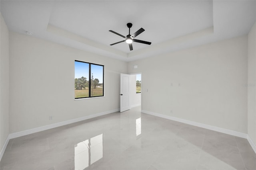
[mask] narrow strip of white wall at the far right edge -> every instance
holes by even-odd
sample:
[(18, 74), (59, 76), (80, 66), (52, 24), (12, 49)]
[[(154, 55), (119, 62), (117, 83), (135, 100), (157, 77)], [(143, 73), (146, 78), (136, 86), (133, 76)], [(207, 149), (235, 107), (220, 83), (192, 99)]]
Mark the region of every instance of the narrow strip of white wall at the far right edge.
[(256, 144), (256, 23), (248, 34), (248, 135)]

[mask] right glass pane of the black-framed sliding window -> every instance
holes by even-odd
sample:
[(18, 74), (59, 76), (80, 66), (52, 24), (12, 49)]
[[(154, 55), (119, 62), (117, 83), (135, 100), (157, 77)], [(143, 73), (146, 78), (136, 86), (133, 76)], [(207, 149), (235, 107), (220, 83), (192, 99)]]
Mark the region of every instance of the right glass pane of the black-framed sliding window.
[(91, 96), (103, 96), (103, 66), (91, 64)]

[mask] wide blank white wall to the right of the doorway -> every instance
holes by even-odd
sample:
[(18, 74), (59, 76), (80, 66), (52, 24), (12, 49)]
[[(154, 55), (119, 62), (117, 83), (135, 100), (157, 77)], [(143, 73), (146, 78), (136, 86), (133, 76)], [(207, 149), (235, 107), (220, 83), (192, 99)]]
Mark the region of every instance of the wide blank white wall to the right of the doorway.
[(247, 36), (128, 63), (135, 72), (142, 110), (247, 133)]

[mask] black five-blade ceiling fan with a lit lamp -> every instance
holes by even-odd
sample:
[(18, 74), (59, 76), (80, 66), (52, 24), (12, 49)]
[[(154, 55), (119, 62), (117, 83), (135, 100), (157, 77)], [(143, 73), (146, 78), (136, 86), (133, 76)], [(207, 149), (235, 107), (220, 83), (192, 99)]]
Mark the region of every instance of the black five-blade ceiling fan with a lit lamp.
[(136, 43), (143, 43), (143, 44), (148, 44), (150, 45), (151, 43), (148, 42), (148, 41), (142, 41), (142, 40), (138, 40), (138, 39), (134, 39), (136, 36), (138, 36), (140, 33), (142, 33), (143, 31), (145, 31), (145, 29), (143, 28), (140, 28), (138, 31), (136, 31), (134, 34), (130, 35), (130, 28), (132, 27), (132, 23), (127, 23), (127, 27), (129, 28), (129, 34), (126, 35), (126, 37), (124, 37), (124, 35), (121, 35), (119, 33), (116, 33), (115, 31), (112, 31), (112, 30), (109, 30), (110, 32), (116, 34), (116, 35), (119, 35), (123, 38), (125, 38), (125, 40), (123, 41), (119, 41), (117, 43), (114, 43), (114, 44), (110, 44), (110, 45), (115, 45), (115, 44), (118, 44), (118, 43), (122, 43), (122, 42), (126, 42), (129, 44), (129, 47), (130, 47), (130, 51), (132, 51), (132, 42), (136, 42)]

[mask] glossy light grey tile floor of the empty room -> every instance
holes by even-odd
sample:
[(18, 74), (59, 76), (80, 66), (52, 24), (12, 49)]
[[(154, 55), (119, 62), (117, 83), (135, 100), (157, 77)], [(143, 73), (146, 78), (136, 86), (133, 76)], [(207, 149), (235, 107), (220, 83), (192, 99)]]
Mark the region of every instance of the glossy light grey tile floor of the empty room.
[(1, 170), (256, 170), (246, 139), (123, 113), (10, 139)]

